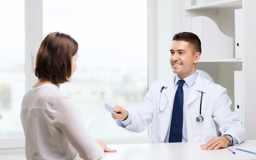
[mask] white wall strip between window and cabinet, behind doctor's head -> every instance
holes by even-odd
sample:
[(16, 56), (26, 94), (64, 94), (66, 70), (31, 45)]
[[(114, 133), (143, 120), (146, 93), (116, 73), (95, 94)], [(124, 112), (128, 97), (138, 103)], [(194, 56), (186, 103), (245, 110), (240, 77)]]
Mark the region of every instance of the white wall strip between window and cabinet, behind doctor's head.
[(170, 49), (175, 33), (183, 31), (183, 1), (156, 0), (156, 79), (173, 74)]

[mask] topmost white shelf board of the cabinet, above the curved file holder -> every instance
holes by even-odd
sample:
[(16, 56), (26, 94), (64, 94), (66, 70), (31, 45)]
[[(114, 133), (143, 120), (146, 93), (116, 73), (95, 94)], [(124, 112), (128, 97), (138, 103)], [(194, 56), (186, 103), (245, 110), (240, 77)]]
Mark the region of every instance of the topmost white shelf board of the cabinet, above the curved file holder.
[(203, 4), (184, 7), (184, 10), (201, 10), (201, 9), (225, 9), (225, 8), (242, 8), (242, 0), (218, 0)]

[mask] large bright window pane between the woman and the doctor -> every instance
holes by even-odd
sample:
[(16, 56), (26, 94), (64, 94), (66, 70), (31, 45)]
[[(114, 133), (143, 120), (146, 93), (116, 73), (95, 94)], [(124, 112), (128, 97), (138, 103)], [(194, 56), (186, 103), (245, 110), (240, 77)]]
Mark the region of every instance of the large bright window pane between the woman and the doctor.
[(78, 68), (62, 84), (94, 138), (148, 136), (121, 129), (104, 103), (128, 111), (148, 90), (147, 0), (43, 0), (43, 35), (60, 31), (79, 43)]

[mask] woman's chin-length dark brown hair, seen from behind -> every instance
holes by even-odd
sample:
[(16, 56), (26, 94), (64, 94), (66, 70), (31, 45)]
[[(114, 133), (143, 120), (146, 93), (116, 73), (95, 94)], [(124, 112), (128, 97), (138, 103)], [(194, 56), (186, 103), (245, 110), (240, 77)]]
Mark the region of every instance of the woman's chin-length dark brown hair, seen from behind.
[(78, 43), (71, 36), (61, 32), (49, 33), (37, 52), (35, 75), (54, 84), (68, 82), (72, 73), (72, 56), (77, 51)]

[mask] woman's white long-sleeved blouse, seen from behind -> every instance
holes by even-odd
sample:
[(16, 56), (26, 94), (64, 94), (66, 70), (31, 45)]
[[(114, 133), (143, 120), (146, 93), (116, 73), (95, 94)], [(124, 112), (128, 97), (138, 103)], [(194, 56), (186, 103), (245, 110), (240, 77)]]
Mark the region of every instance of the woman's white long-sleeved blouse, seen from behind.
[(90, 137), (71, 98), (54, 84), (30, 88), (21, 104), (28, 160), (98, 160), (103, 149)]

